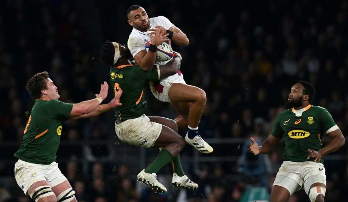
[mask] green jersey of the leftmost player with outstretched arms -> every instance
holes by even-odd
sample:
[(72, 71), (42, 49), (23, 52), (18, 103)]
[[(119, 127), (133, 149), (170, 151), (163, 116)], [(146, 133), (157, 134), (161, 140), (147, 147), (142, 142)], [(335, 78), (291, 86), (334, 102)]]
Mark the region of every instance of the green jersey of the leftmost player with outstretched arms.
[(22, 144), (14, 157), (43, 165), (55, 161), (62, 120), (69, 119), (71, 110), (72, 104), (59, 100), (36, 100), (24, 129)]

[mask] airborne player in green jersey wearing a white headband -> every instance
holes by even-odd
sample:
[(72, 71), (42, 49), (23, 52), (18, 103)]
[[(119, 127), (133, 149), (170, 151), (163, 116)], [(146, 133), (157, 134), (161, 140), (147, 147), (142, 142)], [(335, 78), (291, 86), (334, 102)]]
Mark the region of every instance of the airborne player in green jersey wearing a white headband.
[[(161, 37), (157, 35), (155, 37)], [(151, 186), (155, 192), (167, 189), (158, 182), (156, 173), (172, 162), (174, 174), (172, 184), (185, 188), (198, 188), (181, 167), (179, 153), (185, 146), (184, 139), (177, 133), (174, 120), (164, 117), (147, 117), (144, 111), (147, 102), (144, 99), (144, 87), (149, 81), (174, 75), (180, 69), (180, 56), (174, 57), (165, 66), (153, 66), (148, 71), (129, 61), (133, 59), (127, 46), (106, 41), (100, 49), (100, 59), (110, 66), (110, 82), (117, 95), (122, 89), (122, 106), (115, 108), (116, 134), (121, 141), (131, 145), (162, 148), (158, 157), (138, 175), (137, 179)]]

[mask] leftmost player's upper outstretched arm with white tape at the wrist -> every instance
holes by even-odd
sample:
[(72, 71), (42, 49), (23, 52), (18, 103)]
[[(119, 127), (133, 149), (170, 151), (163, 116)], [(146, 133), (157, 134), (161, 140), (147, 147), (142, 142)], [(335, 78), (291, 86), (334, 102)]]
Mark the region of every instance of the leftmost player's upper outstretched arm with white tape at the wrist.
[(83, 101), (72, 105), (70, 117), (81, 116), (92, 112), (100, 103), (108, 96), (109, 85), (104, 82), (100, 87), (100, 93), (96, 94), (96, 98), (92, 100)]

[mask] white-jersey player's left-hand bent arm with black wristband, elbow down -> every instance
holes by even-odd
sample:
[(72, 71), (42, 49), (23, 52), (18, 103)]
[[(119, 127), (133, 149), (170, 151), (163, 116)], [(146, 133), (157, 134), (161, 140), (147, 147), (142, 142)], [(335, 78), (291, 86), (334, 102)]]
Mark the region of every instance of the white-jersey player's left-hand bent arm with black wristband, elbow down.
[(151, 40), (149, 51), (142, 50), (134, 56), (135, 62), (145, 71), (150, 71), (155, 65), (157, 46), (169, 40), (166, 39), (168, 34), (161, 34), (159, 31), (149, 34), (149, 36)]

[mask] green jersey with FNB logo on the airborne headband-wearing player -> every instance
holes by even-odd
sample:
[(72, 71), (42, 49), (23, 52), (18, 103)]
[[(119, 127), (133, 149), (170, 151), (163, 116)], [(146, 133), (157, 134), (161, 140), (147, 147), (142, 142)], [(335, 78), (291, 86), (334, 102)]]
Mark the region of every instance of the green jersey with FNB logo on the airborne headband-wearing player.
[(117, 120), (124, 121), (140, 117), (147, 108), (144, 99), (144, 86), (149, 81), (160, 77), (159, 68), (154, 66), (151, 71), (145, 71), (140, 66), (122, 65), (110, 68), (110, 83), (116, 94), (120, 89), (121, 106), (115, 108)]

